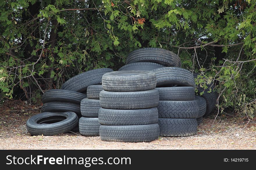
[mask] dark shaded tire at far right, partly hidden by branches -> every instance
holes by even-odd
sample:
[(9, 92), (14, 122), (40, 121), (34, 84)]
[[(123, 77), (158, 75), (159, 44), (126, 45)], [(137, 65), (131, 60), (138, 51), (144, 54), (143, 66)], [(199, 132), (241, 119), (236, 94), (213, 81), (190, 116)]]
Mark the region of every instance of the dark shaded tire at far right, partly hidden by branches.
[[(197, 77), (198, 75), (199, 75), (198, 73), (193, 74), (194, 77)], [(196, 93), (197, 95), (200, 95), (200, 93), (204, 92), (202, 95), (200, 95), (206, 101), (206, 111), (203, 117), (207, 117), (213, 113), (214, 108), (216, 107), (215, 105), (217, 100), (216, 93), (214, 92), (215, 85), (211, 83), (211, 84), (206, 84), (206, 86), (208, 88), (204, 89), (200, 87), (200, 85), (197, 85), (198, 92)], [(208, 93), (210, 91), (210, 88), (211, 88), (211, 92)]]

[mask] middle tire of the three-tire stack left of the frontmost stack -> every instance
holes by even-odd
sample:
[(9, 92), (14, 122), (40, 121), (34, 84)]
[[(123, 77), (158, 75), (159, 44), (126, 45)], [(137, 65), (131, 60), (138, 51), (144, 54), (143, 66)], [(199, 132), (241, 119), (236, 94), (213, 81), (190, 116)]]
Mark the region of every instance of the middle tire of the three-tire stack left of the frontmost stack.
[(81, 101), (81, 114), (83, 117), (98, 117), (100, 102), (97, 99), (85, 98)]

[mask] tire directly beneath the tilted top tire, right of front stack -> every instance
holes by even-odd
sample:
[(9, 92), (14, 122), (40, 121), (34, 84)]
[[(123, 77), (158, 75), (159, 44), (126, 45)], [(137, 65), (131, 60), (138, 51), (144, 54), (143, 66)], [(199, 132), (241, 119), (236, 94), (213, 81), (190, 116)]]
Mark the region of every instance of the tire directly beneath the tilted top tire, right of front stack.
[(159, 100), (195, 100), (195, 89), (193, 87), (157, 87)]

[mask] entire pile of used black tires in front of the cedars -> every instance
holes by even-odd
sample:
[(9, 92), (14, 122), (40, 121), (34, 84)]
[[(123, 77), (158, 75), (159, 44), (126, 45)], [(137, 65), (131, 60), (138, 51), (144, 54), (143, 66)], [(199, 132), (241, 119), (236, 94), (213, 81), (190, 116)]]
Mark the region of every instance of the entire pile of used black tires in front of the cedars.
[(127, 56), (126, 64), (118, 71), (81, 73), (61, 89), (46, 91), (42, 113), (26, 122), (28, 132), (56, 135), (79, 129), (104, 141), (146, 142), (159, 135), (195, 135), (202, 118), (214, 110), (214, 84), (196, 86), (200, 75), (181, 68), (175, 53), (141, 48)]

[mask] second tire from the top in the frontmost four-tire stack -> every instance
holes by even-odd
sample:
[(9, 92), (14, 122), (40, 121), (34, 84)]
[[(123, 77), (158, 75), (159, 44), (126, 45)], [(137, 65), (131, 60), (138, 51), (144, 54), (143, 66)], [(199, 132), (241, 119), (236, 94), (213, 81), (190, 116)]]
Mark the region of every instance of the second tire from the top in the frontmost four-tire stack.
[(99, 100), (102, 108), (108, 109), (142, 109), (158, 105), (159, 93), (157, 89), (137, 92), (109, 92), (101, 91)]

